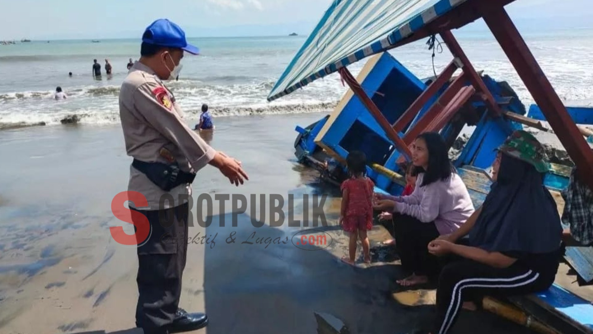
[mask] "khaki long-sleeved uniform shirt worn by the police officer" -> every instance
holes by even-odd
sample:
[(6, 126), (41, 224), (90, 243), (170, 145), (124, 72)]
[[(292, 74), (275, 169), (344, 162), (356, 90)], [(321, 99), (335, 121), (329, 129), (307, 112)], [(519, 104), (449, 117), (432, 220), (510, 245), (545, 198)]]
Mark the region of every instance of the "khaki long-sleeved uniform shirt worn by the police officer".
[[(182, 171), (197, 172), (216, 154), (199, 134), (187, 127), (173, 94), (151, 68), (140, 62), (133, 65), (123, 81), (119, 114), (127, 155), (135, 159), (161, 163), (177, 161)], [(130, 207), (143, 210), (179, 206), (186, 203), (192, 193), (188, 184), (164, 191), (131, 165), (127, 190), (138, 191), (146, 197), (148, 208), (129, 202)], [(173, 203), (165, 200), (160, 207), (164, 194), (171, 194)]]

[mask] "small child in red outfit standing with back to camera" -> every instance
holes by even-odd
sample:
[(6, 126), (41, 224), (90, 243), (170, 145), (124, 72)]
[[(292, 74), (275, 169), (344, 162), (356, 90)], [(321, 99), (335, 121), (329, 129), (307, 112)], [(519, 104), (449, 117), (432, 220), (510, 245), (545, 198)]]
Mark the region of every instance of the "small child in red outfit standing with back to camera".
[(366, 231), (372, 229), (372, 197), (374, 184), (366, 177), (366, 156), (354, 151), (346, 157), (350, 178), (342, 183), (342, 211), (340, 226), (350, 234), (349, 257), (342, 261), (354, 264), (356, 240), (360, 238), (365, 263), (371, 263), (369, 239)]

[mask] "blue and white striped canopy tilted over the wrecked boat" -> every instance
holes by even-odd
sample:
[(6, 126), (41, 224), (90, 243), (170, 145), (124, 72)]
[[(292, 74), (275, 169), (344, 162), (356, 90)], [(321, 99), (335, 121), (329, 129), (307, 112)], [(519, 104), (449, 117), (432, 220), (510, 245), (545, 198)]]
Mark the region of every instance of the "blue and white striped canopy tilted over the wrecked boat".
[(267, 100), (390, 49), (467, 0), (334, 0)]

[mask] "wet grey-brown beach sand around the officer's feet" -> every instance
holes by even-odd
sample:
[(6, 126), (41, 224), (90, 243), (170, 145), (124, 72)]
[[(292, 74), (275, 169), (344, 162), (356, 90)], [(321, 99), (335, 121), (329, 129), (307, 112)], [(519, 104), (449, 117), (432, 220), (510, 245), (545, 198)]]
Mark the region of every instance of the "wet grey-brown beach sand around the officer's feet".
[[(298, 198), (327, 194), (327, 226), (315, 229), (329, 234), (331, 244), (315, 251), (297, 248), (292, 236), (313, 227), (256, 228), (250, 210), (237, 215), (232, 227), (230, 206), (225, 212), (214, 206), (212, 224), (195, 223), (190, 235), (197, 240), (216, 235), (215, 245), (189, 244), (183, 277), (180, 306), (206, 310), (210, 319), (197, 333), (316, 333), (314, 312), (331, 314), (349, 333), (407, 333), (432, 319), (431, 306), (394, 301), (393, 292), (401, 291), (394, 281), (404, 275), (395, 259), (357, 267), (339, 262), (347, 253), (347, 237), (337, 226), (339, 193), (318, 183), (317, 173), (294, 158), (295, 125), (321, 116), (215, 119), (212, 146), (240, 159), (250, 181), (235, 188), (206, 167), (193, 184), (194, 198), (294, 194), (291, 212), (302, 219)], [(117, 244), (109, 232), (109, 226), (127, 232), (132, 227), (110, 209), (113, 197), (126, 190), (131, 162), (121, 132), (119, 125), (0, 132), (0, 332), (133, 332), (136, 250)], [(288, 215), (288, 203), (284, 209)], [(223, 216), (225, 227), (219, 226)], [(232, 232), (236, 242), (228, 244)], [(267, 248), (241, 243), (254, 232), (256, 238), (291, 242)], [(369, 237), (372, 245), (388, 238), (380, 226)], [(467, 312), (452, 333), (475, 333), (477, 326), (483, 334), (529, 333), (490, 314)]]

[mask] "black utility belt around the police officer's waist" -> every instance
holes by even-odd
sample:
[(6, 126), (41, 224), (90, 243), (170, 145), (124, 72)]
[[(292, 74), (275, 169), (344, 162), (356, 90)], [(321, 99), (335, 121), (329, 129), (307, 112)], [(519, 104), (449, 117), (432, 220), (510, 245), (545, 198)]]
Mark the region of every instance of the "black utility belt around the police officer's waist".
[(196, 178), (196, 174), (181, 171), (177, 165), (134, 159), (132, 166), (144, 173), (152, 183), (158, 185), (164, 191), (169, 191), (180, 184), (192, 184)]

